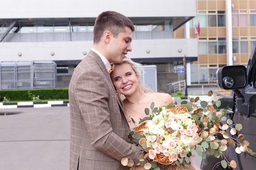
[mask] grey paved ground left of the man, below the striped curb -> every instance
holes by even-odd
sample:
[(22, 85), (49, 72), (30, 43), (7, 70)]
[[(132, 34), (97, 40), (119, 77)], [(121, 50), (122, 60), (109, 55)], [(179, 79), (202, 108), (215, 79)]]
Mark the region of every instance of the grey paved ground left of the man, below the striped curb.
[(0, 113), (0, 170), (69, 170), (69, 107)]

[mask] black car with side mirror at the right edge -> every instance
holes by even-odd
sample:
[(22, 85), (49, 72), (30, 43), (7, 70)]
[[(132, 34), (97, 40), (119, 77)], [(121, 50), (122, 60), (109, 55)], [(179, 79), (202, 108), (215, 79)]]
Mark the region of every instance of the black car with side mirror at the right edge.
[[(249, 148), (256, 152), (256, 43), (252, 50), (247, 68), (242, 65), (224, 66), (216, 71), (217, 84), (220, 88), (231, 90), (230, 97), (223, 97), (222, 107), (232, 110), (227, 117), (234, 123), (242, 124), (243, 128), (233, 137), (240, 133), (249, 141)], [(255, 170), (256, 155), (249, 152), (237, 154), (233, 146), (228, 146), (224, 152), (228, 160), (235, 160), (237, 168), (222, 168), (220, 161), (207, 153), (206, 159), (202, 159), (202, 170)]]

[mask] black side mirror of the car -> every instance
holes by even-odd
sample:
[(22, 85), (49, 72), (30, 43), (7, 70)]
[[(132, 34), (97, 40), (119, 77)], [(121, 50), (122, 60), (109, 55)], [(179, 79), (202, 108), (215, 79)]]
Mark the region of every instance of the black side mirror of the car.
[(247, 86), (247, 70), (245, 66), (224, 66), (216, 71), (216, 80), (220, 88), (238, 90)]

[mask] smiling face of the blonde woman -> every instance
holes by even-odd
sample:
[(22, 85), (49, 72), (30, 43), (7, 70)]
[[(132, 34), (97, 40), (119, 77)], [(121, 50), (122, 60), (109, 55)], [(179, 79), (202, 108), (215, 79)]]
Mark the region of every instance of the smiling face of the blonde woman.
[(111, 73), (112, 82), (118, 93), (132, 95), (138, 91), (138, 78), (128, 63), (116, 64)]

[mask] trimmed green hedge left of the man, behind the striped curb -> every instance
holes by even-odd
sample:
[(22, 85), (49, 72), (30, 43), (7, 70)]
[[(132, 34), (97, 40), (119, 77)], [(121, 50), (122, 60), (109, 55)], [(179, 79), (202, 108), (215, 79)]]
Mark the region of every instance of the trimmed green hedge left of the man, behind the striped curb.
[(68, 99), (68, 88), (0, 90), (0, 101), (3, 101), (4, 97), (10, 101), (27, 101), (38, 96), (41, 100)]

